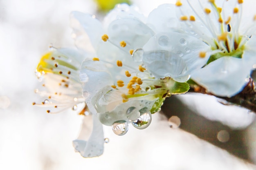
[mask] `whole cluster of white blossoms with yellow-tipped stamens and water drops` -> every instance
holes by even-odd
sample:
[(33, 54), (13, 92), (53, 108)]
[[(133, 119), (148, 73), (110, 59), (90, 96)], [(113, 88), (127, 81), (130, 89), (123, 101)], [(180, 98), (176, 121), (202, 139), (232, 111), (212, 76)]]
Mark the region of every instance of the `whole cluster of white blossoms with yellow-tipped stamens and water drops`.
[(83, 157), (95, 157), (103, 152), (102, 124), (117, 135), (128, 124), (148, 127), (166, 97), (189, 90), (189, 79), (214, 95), (236, 95), (256, 67), (256, 15), (242, 29), (242, 9), (243, 0), (177, 0), (146, 18), (118, 4), (103, 22), (74, 11), (77, 49), (41, 58), (36, 75), (46, 89), (36, 92), (48, 99), (33, 104), (92, 117), (88, 141), (80, 135), (73, 144)]

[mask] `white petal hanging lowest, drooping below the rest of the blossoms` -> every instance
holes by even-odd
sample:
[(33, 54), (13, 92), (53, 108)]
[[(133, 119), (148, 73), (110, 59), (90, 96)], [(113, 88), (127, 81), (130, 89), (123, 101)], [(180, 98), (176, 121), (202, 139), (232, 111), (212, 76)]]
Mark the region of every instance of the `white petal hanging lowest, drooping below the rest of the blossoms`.
[[(90, 126), (91, 121), (93, 121), (93, 126)], [(85, 141), (89, 132), (91, 132), (90, 138)], [(73, 141), (75, 150), (85, 158), (99, 157), (103, 153), (103, 144), (103, 127), (98, 117), (96, 115), (85, 116), (79, 139)]]

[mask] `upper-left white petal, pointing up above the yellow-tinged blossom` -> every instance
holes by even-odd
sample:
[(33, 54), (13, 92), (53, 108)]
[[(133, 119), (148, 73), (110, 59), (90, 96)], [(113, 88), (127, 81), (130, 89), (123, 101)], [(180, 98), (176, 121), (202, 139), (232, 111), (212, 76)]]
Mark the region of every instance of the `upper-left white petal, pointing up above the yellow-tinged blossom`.
[(103, 35), (101, 22), (90, 14), (73, 11), (70, 14), (70, 25), (77, 48), (94, 52)]

